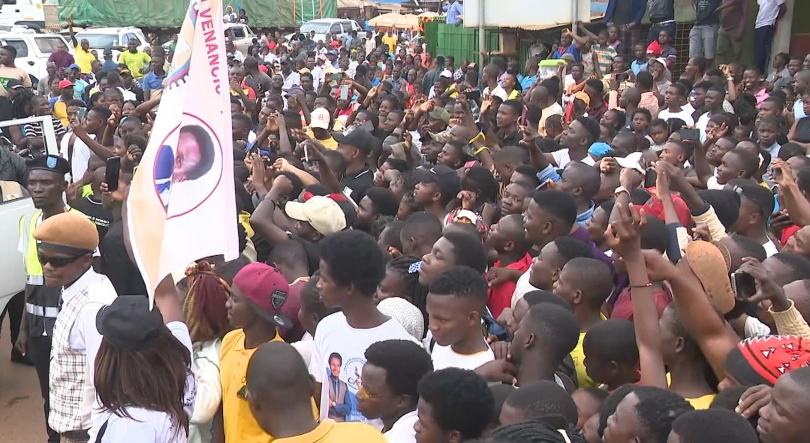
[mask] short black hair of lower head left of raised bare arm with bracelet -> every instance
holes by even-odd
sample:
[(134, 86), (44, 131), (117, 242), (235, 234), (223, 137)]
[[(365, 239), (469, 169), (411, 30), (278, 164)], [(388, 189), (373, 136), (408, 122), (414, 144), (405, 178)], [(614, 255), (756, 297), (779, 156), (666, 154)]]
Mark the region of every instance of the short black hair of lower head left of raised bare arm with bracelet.
[(629, 320), (605, 320), (594, 325), (585, 334), (582, 348), (603, 362), (638, 364), (636, 330)]

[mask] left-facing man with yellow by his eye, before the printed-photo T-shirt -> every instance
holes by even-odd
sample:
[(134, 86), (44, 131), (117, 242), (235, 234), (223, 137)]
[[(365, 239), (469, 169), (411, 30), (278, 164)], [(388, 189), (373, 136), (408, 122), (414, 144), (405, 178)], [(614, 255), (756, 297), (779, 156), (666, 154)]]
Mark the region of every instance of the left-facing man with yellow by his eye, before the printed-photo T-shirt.
[(389, 443), (415, 443), (416, 387), (425, 374), (433, 372), (430, 356), (416, 343), (387, 340), (369, 346), (365, 357), (358, 410), (366, 418), (382, 420), (381, 430)]

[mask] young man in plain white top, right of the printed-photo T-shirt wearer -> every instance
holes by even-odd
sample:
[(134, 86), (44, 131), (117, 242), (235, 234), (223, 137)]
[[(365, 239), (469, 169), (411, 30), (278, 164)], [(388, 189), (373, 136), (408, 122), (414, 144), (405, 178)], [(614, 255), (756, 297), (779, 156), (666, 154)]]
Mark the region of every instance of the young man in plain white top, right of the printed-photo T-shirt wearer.
[(487, 304), (487, 282), (474, 269), (453, 266), (430, 284), (427, 312), (436, 341), (431, 351), (433, 367), (473, 370), (495, 360), (481, 334)]

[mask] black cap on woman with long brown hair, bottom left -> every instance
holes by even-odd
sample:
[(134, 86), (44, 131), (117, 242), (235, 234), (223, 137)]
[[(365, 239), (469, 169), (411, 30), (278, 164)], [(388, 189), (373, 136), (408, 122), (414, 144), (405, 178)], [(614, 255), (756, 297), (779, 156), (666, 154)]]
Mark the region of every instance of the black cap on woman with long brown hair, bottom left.
[(119, 295), (96, 314), (96, 329), (114, 348), (135, 352), (149, 349), (160, 338), (163, 316), (149, 309), (145, 295)]

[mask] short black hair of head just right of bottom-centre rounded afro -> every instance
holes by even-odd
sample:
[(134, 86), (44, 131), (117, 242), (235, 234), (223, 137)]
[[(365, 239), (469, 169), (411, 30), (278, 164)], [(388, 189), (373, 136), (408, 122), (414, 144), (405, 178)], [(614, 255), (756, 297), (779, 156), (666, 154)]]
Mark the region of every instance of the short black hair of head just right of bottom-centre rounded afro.
[(509, 395), (506, 404), (525, 412), (526, 418), (559, 416), (568, 426), (577, 424), (577, 404), (571, 394), (553, 381), (543, 380), (523, 385)]

